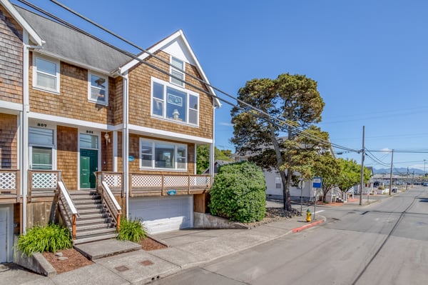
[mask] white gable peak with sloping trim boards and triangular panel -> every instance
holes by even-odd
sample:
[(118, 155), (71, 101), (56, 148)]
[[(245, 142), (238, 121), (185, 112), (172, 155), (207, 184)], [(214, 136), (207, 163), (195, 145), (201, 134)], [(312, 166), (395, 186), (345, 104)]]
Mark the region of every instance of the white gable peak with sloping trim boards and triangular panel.
[[(178, 59), (188, 62), (193, 66), (196, 66), (196, 69), (198, 69), (198, 72), (202, 77), (203, 81), (210, 84), (210, 81), (208, 81), (208, 78), (205, 75), (202, 66), (200, 66), (198, 58), (195, 56), (193, 50), (190, 48), (190, 44), (188, 43), (188, 40), (186, 39), (182, 30), (175, 31), (175, 33), (171, 34), (170, 36), (167, 36), (165, 39), (159, 41), (157, 44), (154, 44), (153, 46), (147, 49), (148, 53), (141, 53), (138, 56), (138, 59), (146, 59), (148, 56), (150, 56), (150, 54), (154, 54), (156, 53), (156, 51), (160, 50), (165, 51), (167, 54), (171, 54)], [(128, 71), (133, 66), (136, 66), (136, 64), (140, 64), (140, 61), (136, 59), (131, 60), (127, 64), (121, 66), (121, 73)], [(207, 88), (210, 91), (210, 94), (216, 96), (213, 87), (207, 86)], [(217, 98), (215, 98), (215, 106), (221, 106), (220, 101)]]

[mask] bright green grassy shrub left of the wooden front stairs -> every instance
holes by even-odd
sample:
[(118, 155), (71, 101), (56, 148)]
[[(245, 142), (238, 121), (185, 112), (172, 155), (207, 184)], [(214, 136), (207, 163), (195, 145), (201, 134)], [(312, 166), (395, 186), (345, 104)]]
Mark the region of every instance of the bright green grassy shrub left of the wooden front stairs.
[(58, 224), (34, 226), (26, 234), (19, 236), (18, 249), (23, 254), (31, 256), (34, 252), (56, 252), (70, 249), (73, 246), (71, 234), (67, 228)]

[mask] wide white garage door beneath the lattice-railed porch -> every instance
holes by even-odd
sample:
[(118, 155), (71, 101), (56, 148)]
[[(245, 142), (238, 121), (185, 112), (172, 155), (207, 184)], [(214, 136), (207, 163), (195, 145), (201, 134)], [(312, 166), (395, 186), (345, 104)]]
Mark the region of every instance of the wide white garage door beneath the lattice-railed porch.
[(142, 197), (129, 200), (131, 218), (143, 218), (150, 234), (193, 226), (193, 196)]

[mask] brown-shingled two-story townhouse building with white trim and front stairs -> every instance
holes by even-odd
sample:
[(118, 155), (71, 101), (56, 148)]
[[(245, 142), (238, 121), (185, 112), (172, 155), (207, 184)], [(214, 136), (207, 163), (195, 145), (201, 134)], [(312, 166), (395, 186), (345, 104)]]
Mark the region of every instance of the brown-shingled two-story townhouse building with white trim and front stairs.
[(0, 42), (0, 263), (58, 213), (75, 242), (114, 236), (121, 214), (151, 233), (193, 226), (212, 183), (196, 146), (214, 144), (220, 103), (183, 31), (148, 49), (168, 66), (0, 0)]

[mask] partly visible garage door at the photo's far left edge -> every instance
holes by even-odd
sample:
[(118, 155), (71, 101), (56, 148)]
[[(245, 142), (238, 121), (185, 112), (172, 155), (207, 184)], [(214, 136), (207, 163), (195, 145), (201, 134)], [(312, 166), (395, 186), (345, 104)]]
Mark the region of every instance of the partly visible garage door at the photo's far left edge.
[(11, 262), (13, 238), (11, 207), (0, 207), (0, 263)]

